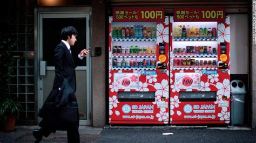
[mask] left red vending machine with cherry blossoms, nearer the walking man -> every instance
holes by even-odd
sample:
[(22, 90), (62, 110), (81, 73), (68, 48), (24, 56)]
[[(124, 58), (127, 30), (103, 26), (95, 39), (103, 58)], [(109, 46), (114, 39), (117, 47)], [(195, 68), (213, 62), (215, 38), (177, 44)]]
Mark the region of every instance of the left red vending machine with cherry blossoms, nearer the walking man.
[(169, 17), (113, 9), (109, 17), (109, 123), (169, 123)]

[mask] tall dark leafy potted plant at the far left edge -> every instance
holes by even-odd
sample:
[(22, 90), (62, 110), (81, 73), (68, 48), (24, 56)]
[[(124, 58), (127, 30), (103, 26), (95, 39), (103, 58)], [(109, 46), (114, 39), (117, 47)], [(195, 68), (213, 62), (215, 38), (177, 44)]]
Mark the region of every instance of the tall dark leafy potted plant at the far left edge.
[(13, 35), (0, 33), (0, 123), (4, 131), (14, 130), (15, 118), (22, 110), (21, 104), (10, 96), (8, 86), (14, 77), (11, 73), (15, 59), (11, 56), (11, 51), (15, 47)]

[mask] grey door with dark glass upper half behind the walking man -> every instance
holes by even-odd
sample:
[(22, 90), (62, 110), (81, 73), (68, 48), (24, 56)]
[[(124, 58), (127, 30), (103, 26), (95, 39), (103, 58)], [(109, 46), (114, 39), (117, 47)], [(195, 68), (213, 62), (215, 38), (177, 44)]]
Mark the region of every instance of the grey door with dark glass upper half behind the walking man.
[[(48, 97), (55, 77), (55, 67), (53, 63), (53, 53), (55, 47), (60, 42), (60, 31), (65, 26), (73, 26), (77, 29), (77, 42), (71, 47), (72, 56), (78, 56), (84, 48), (90, 47), (90, 13), (72, 12), (39, 12), (38, 13), (38, 59), (40, 63), (44, 61), (44, 66), (38, 64), (40, 71), (38, 86), (38, 107), (41, 108)], [(91, 117), (91, 58), (80, 63), (76, 71), (76, 97), (79, 109), (79, 125), (90, 125)], [(43, 72), (42, 72), (43, 71)], [(45, 74), (42, 74), (45, 73)]]

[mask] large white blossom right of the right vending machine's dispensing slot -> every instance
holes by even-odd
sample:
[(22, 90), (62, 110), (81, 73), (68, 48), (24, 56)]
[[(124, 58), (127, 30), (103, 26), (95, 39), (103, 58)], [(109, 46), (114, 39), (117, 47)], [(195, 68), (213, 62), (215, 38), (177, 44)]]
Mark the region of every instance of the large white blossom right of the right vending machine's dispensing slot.
[(225, 78), (223, 80), (223, 83), (218, 82), (216, 84), (216, 88), (218, 89), (217, 95), (226, 96), (227, 98), (230, 98), (230, 80)]

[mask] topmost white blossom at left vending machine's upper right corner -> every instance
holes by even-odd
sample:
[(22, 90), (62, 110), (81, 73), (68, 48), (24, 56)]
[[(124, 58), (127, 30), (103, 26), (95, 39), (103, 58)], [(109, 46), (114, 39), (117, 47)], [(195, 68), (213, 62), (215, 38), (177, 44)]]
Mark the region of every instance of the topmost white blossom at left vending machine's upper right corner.
[(157, 24), (157, 43), (169, 42), (169, 27), (164, 27), (163, 24)]

